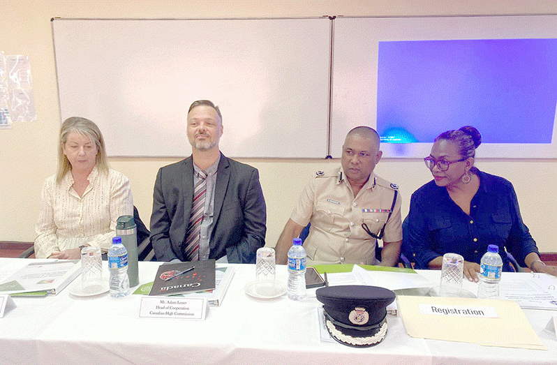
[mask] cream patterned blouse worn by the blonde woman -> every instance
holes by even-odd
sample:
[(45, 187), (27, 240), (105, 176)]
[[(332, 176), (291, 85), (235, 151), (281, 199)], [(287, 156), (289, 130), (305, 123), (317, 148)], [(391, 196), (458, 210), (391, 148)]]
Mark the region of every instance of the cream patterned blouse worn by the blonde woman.
[(36, 258), (83, 244), (107, 251), (119, 216), (133, 215), (130, 181), (124, 174), (112, 169), (105, 174), (94, 167), (87, 179), (89, 186), (81, 198), (73, 190), (71, 172), (60, 184), (55, 176), (45, 180), (35, 228)]

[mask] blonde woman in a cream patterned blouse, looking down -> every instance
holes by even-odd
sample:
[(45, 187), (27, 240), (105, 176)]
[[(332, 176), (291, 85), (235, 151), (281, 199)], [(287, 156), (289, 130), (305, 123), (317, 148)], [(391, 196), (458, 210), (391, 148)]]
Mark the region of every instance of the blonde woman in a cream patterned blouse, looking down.
[(89, 119), (60, 128), (57, 173), (45, 180), (36, 225), (36, 258), (80, 258), (84, 246), (107, 251), (119, 216), (133, 215), (130, 182), (108, 167), (105, 142)]

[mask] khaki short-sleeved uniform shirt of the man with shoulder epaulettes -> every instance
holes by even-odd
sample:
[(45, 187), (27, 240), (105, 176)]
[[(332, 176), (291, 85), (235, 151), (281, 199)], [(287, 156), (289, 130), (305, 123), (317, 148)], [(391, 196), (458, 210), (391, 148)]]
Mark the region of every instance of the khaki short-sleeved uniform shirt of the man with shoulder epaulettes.
[(290, 218), (295, 223), (305, 227), (311, 222), (304, 241), (308, 265), (376, 264), (376, 239), (362, 228), (362, 223), (376, 235), (385, 225), (385, 242), (402, 239), (400, 194), (387, 221), (398, 187), (371, 172), (354, 197), (345, 176), (342, 167), (316, 172), (292, 211)]

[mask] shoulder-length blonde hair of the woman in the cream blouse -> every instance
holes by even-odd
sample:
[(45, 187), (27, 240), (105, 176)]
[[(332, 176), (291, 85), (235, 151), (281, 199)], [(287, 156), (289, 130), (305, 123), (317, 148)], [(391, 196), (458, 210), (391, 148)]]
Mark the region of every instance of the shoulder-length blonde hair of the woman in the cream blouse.
[(58, 169), (56, 181), (59, 184), (68, 171), (71, 170), (70, 161), (64, 154), (62, 146), (68, 142), (68, 135), (72, 132), (91, 138), (97, 147), (96, 167), (99, 172), (108, 173), (108, 159), (106, 157), (105, 140), (101, 130), (89, 119), (82, 117), (70, 117), (62, 123), (58, 140)]

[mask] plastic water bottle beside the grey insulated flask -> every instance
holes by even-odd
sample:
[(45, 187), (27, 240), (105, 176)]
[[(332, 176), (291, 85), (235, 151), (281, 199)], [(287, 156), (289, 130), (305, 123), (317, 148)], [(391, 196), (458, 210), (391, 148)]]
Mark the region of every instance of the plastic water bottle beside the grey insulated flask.
[(108, 271), (110, 271), (110, 296), (126, 297), (130, 293), (128, 251), (120, 237), (112, 239), (112, 246), (108, 250)]

